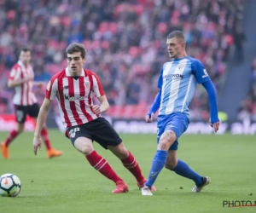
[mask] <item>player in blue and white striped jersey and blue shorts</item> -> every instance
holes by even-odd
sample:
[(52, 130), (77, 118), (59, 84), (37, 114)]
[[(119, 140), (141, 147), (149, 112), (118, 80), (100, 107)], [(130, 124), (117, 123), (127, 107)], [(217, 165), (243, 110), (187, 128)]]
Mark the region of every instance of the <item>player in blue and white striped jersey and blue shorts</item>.
[(218, 131), (216, 89), (201, 61), (186, 54), (183, 32), (171, 32), (167, 36), (166, 44), (172, 61), (168, 61), (162, 66), (158, 81), (160, 91), (145, 117), (146, 122), (152, 122), (154, 113), (159, 109), (157, 118), (158, 147), (148, 181), (142, 188), (142, 194), (153, 195), (151, 187), (164, 166), (179, 176), (195, 181), (192, 192), (200, 193), (201, 189), (211, 182), (211, 179), (208, 176), (197, 174), (189, 168), (188, 164), (177, 159), (177, 140), (189, 126), (189, 104), (197, 83), (201, 83), (207, 90), (211, 109), (210, 124), (215, 132)]

